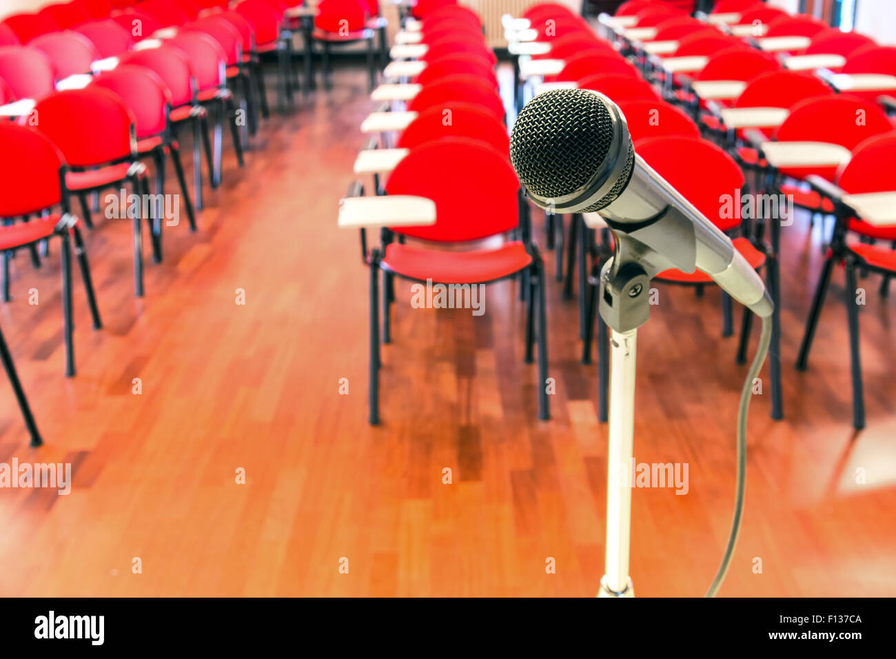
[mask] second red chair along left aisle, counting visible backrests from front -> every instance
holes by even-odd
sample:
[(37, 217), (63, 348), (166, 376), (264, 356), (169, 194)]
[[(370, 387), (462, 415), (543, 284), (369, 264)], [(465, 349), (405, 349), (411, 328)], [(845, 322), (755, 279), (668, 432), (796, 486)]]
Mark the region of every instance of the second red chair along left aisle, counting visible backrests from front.
[[(39, 131), (56, 143), (71, 168), (63, 179), (64, 198), (78, 195), (85, 221), (87, 195), (92, 192), (118, 190), (129, 183), (134, 194), (149, 194), (146, 168), (137, 160), (134, 115), (115, 93), (97, 88), (59, 91), (38, 101), (35, 111)], [(132, 219), (134, 289), (142, 297), (142, 211)]]

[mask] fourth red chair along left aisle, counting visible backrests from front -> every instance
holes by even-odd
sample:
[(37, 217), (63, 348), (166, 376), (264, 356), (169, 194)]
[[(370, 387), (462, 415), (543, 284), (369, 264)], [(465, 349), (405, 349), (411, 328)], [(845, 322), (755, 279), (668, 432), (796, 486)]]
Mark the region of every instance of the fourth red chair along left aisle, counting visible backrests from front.
[(171, 95), (172, 134), (177, 138), (181, 126), (193, 127), (193, 199), (197, 210), (202, 210), (202, 148), (209, 171), (214, 169), (209, 137), (208, 111), (196, 102), (196, 80), (193, 67), (179, 48), (162, 46), (125, 53), (120, 64), (145, 66), (158, 75)]

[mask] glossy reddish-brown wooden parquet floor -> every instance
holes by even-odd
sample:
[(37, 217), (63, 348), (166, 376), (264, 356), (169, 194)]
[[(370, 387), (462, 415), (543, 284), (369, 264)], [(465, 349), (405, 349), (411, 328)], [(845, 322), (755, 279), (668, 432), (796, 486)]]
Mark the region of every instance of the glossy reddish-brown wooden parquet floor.
[[(330, 93), (271, 118), (245, 169), (228, 147), (200, 230), (167, 230), (144, 299), (129, 224), (99, 219), (87, 239), (105, 328), (90, 329), (76, 280), (77, 377), (63, 376), (58, 249), (39, 271), (14, 260), (0, 324), (47, 444), (28, 447), (0, 383), (0, 462), (71, 462), (74, 483), (68, 496), (0, 490), (0, 595), (595, 594), (607, 428), (559, 284), (552, 421), (536, 418), (515, 284), (489, 288), (474, 317), (411, 308), (401, 283), (383, 425), (366, 423), (367, 275), (336, 212), (370, 108), (363, 74), (338, 70)], [(819, 240), (805, 215), (783, 230), (787, 419), (769, 418), (764, 371), (723, 595), (896, 594), (896, 309), (861, 282), (868, 424), (854, 434), (842, 270), (811, 368), (793, 368)], [(689, 491), (634, 490), (632, 576), (639, 595), (699, 595), (728, 534), (745, 367), (720, 338), (717, 290), (658, 288), (638, 347), (635, 458), (687, 463)]]

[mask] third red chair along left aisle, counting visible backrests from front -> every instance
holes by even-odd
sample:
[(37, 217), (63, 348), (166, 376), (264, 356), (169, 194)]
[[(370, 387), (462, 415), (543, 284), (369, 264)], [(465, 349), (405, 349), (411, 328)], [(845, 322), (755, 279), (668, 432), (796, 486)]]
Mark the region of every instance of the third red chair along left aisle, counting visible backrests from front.
[[(137, 157), (153, 160), (156, 168), (156, 195), (165, 194), (165, 160), (170, 154), (181, 194), (184, 195), (190, 230), (196, 230), (193, 202), (186, 187), (184, 166), (180, 160), (180, 144), (174, 138), (168, 121), (171, 97), (165, 82), (144, 66), (121, 65), (114, 71), (101, 74), (90, 86), (115, 93), (134, 114)], [(156, 207), (151, 210), (152, 257), (156, 263), (161, 263), (162, 227), (166, 218), (163, 217), (164, 209)]]

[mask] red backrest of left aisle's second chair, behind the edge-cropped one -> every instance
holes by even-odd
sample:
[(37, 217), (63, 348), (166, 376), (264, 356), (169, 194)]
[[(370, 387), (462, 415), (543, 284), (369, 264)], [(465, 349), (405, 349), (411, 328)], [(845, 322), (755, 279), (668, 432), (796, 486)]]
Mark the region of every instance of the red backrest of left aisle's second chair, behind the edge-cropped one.
[(65, 162), (93, 167), (134, 154), (134, 115), (116, 93), (96, 87), (57, 91), (39, 100), (38, 129), (46, 134)]

